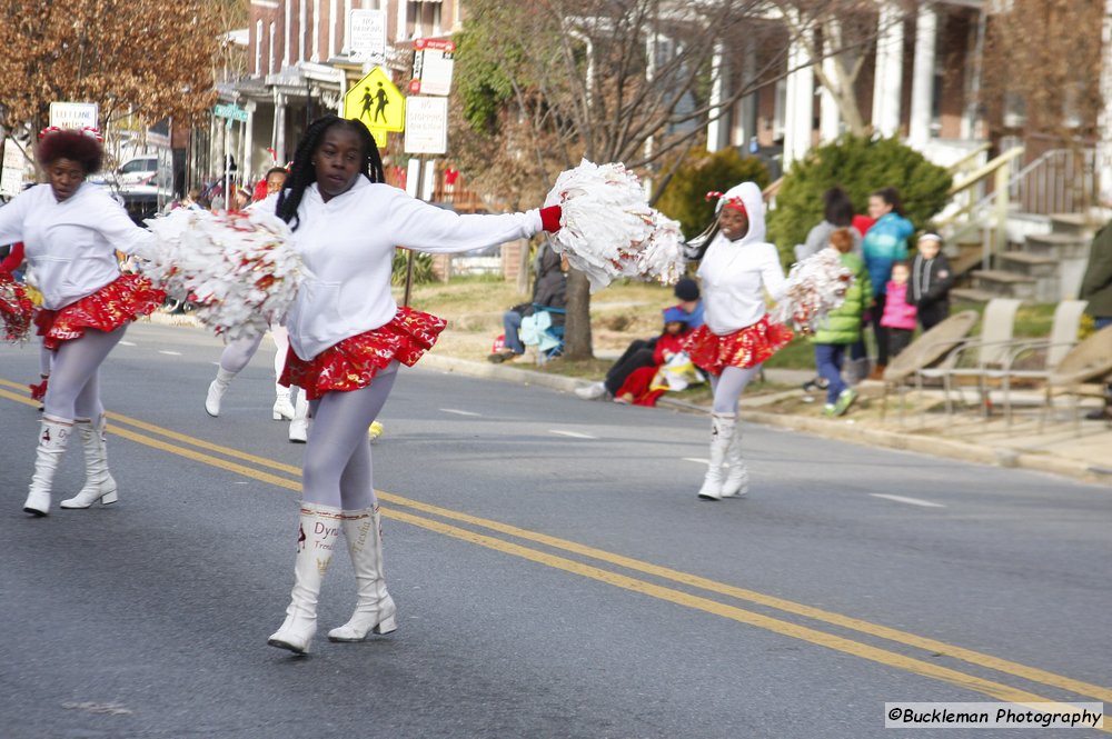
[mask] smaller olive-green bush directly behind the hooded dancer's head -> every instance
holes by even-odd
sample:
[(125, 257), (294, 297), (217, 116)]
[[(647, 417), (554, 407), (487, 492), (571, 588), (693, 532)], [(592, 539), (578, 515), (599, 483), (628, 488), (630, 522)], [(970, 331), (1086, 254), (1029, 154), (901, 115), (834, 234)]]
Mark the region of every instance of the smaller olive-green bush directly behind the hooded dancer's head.
[(656, 208), (679, 221), (684, 236), (698, 236), (714, 219), (714, 202), (707, 202), (712, 190), (725, 192), (739, 182), (753, 181), (761, 189), (768, 186), (768, 169), (754, 157), (742, 157), (737, 149), (703, 152), (682, 164), (656, 201)]

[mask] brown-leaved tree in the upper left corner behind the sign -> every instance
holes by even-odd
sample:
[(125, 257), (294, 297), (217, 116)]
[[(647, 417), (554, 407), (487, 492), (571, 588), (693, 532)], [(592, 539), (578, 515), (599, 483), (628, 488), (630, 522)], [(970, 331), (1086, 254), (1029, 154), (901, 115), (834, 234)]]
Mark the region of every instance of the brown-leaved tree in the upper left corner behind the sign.
[(105, 127), (123, 117), (199, 121), (234, 4), (0, 0), (0, 126), (38, 130), (53, 101), (96, 102)]

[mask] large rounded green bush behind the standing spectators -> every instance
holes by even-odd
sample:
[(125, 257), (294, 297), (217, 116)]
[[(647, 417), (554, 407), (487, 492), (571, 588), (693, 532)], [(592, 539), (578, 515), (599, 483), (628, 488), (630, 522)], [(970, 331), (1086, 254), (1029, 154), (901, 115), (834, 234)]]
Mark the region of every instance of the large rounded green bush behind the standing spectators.
[(784, 177), (768, 214), (768, 238), (786, 262), (793, 261), (793, 247), (823, 220), (823, 193), (835, 186), (850, 194), (858, 213), (867, 212), (870, 193), (894, 187), (904, 214), (921, 229), (945, 207), (951, 183), (947, 170), (894, 138), (843, 137), (813, 149)]

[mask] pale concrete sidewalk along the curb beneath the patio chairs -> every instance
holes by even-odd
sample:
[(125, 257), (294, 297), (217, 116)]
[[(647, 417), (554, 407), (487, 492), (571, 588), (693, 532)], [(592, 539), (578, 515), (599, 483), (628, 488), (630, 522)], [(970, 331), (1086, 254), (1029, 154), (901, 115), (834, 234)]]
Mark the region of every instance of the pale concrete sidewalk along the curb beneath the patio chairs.
[[(576, 378), (537, 372), (518, 367), (475, 362), (453, 357), (427, 354), (421, 367), (444, 372), (458, 372), (468, 377), (508, 380), (535, 385), (572, 393), (583, 381)], [(767, 379), (776, 385), (800, 387), (813, 373), (806, 370), (766, 371)], [(903, 421), (890, 399), (887, 418), (880, 418), (880, 382), (857, 386), (858, 402), (851, 412), (838, 419), (821, 417), (823, 398), (805, 402), (802, 389), (783, 390), (742, 398), (742, 412), (746, 421), (775, 426), (840, 441), (915, 451), (936, 457), (957, 459), (981, 465), (1013, 467), (1071, 477), (1112, 488), (1112, 428), (1094, 421), (1082, 421), (1081, 433), (1074, 433), (1072, 420), (1059, 411), (1061, 418), (1049, 419), (1039, 432), (1037, 420), (1017, 415), (1012, 427), (1003, 418), (983, 419), (971, 410), (944, 413), (920, 413), (909, 410)], [(937, 396), (936, 392), (927, 395)], [(929, 400), (935, 401), (936, 397)], [(575, 402), (584, 401), (577, 398)], [(597, 401), (596, 401), (597, 402)], [(697, 413), (709, 413), (709, 408), (695, 406), (665, 396), (658, 401), (665, 408)]]

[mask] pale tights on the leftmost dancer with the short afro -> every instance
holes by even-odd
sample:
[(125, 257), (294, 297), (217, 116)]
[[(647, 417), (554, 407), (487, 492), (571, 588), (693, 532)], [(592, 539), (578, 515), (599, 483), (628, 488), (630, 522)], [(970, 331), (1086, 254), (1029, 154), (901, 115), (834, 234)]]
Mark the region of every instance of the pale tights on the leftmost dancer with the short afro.
[(48, 416), (66, 421), (100, 418), (105, 412), (100, 402), (100, 364), (126, 330), (127, 326), (108, 333), (86, 329), (80, 339), (63, 341), (58, 347), (47, 388)]

